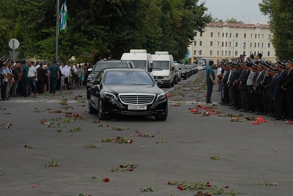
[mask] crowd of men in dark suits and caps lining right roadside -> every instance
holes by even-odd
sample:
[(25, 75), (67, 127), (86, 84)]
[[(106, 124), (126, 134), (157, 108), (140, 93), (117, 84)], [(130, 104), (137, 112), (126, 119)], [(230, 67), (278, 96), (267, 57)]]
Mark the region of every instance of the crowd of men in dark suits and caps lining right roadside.
[[(220, 104), (272, 120), (293, 121), (293, 59), (273, 64), (261, 57), (242, 55), (218, 64)], [(207, 80), (215, 85), (215, 75), (210, 73), (207, 70)], [(211, 102), (210, 98), (207, 102)]]

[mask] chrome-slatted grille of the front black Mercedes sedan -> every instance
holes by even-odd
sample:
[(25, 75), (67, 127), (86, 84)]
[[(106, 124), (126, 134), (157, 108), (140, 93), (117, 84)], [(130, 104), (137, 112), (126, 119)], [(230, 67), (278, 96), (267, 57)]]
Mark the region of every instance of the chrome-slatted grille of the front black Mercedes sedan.
[(125, 93), (119, 94), (119, 98), (122, 103), (127, 105), (146, 105), (153, 102), (155, 95), (145, 93)]

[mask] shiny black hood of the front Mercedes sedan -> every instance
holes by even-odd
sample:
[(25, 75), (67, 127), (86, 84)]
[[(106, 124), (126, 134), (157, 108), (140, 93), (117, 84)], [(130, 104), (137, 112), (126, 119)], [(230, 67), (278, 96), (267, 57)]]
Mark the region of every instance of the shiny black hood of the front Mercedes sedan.
[(160, 94), (164, 91), (157, 86), (151, 85), (104, 85), (105, 92), (114, 94), (120, 93), (149, 93), (149, 94)]

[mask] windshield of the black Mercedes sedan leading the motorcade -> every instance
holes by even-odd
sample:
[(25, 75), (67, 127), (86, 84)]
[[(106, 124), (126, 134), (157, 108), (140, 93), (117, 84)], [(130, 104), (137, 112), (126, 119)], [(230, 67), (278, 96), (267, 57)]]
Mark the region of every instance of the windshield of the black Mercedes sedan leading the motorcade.
[(105, 84), (153, 85), (153, 81), (145, 71), (108, 71)]

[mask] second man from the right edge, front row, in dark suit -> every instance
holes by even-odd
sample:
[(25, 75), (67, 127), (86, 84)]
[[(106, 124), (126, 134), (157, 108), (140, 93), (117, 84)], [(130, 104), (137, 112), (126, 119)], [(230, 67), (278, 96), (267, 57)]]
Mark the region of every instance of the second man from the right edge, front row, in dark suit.
[(270, 66), (268, 68), (268, 73), (272, 76), (272, 80), (268, 87), (268, 101), (269, 105), (273, 105), (274, 116), (272, 120), (281, 120), (282, 116), (282, 104), (284, 101), (284, 92), (281, 89), (280, 81), (281, 76), (278, 73), (278, 69)]

